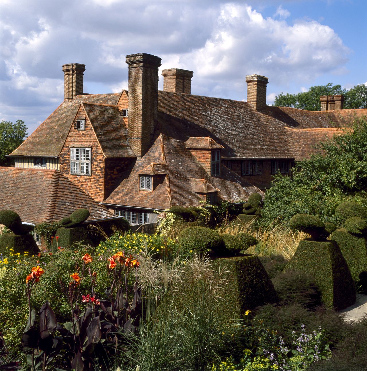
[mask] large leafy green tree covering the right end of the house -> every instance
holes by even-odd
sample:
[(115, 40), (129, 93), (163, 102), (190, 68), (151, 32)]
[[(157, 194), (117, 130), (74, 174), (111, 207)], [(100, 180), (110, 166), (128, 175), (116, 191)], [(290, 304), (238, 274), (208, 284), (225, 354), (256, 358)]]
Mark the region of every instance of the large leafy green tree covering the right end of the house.
[(335, 209), (353, 200), (367, 206), (367, 119), (355, 118), (353, 130), (315, 146), (321, 153), (298, 161), (290, 177), (277, 174), (266, 192), (264, 226), (288, 221), (298, 213), (339, 223)]

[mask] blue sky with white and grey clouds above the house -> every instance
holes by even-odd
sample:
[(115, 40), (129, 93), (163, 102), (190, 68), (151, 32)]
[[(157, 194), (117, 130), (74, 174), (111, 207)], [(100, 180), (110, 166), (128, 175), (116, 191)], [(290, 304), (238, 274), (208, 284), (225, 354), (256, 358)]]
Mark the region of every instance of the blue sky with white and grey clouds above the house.
[[(64, 99), (61, 65), (83, 63), (84, 92), (128, 89), (125, 57), (194, 75), (191, 93), (267, 104), (310, 86), (367, 83), (365, 0), (0, 0), (0, 120), (36, 129)], [(159, 89), (163, 89), (160, 73)]]

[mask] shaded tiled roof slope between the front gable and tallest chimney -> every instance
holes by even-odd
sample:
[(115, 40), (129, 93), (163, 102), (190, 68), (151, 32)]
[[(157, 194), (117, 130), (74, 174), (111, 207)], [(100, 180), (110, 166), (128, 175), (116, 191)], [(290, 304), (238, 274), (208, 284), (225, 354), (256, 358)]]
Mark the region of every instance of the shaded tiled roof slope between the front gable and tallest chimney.
[(135, 157), (117, 106), (84, 102), (82, 105), (106, 157)]

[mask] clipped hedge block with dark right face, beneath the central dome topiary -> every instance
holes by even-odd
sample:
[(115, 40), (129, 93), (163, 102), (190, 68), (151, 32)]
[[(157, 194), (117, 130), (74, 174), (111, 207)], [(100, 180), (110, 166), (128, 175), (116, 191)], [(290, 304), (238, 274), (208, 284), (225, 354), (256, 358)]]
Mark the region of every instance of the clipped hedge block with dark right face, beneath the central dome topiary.
[(217, 258), (216, 264), (227, 265), (224, 276), (228, 285), (222, 295), (224, 315), (229, 319), (245, 318), (248, 309), (254, 309), (265, 303), (275, 303), (278, 295), (270, 277), (256, 255)]

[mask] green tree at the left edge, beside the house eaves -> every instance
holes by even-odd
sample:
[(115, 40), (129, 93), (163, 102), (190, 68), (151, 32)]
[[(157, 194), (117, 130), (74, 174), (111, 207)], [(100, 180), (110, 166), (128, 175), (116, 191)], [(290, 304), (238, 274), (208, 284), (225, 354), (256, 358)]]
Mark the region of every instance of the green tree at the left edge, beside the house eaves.
[(9, 163), (6, 156), (13, 152), (27, 137), (28, 128), (24, 121), (17, 120), (0, 122), (0, 165)]

